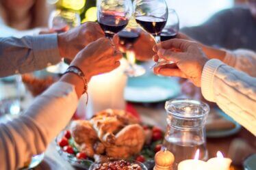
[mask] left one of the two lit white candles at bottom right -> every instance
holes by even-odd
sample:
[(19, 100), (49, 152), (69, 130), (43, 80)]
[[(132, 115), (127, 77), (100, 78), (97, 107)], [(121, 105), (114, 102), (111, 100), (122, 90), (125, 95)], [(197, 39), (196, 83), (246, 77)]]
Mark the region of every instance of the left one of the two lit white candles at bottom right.
[(178, 170), (207, 170), (207, 163), (199, 160), (199, 150), (196, 150), (194, 159), (183, 160), (178, 165)]

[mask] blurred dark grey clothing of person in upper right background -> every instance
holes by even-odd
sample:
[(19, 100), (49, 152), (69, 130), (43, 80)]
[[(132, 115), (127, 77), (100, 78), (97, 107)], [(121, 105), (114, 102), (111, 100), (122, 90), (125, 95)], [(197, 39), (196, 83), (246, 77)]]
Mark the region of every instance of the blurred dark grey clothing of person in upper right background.
[(205, 23), (185, 27), (181, 32), (203, 44), (230, 50), (247, 48), (256, 51), (256, 1), (217, 12)]

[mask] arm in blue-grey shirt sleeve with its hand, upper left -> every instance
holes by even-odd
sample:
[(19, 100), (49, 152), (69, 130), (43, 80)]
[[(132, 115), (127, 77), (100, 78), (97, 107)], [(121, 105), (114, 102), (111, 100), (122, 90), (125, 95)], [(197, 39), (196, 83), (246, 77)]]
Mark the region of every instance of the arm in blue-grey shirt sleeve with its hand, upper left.
[(60, 34), (0, 38), (0, 77), (46, 68), (62, 57), (73, 59), (90, 42), (103, 37), (97, 23)]

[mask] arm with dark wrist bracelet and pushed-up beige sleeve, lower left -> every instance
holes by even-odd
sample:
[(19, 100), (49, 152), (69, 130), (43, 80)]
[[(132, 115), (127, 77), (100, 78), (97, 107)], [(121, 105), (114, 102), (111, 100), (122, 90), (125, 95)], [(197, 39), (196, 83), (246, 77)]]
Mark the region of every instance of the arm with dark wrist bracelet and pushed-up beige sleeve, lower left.
[[(92, 42), (71, 63), (84, 72), (86, 79), (109, 72), (120, 65), (122, 55), (110, 40)], [(0, 169), (17, 169), (31, 156), (44, 152), (47, 145), (70, 121), (84, 91), (84, 82), (73, 73), (62, 76), (23, 115), (0, 124)]]

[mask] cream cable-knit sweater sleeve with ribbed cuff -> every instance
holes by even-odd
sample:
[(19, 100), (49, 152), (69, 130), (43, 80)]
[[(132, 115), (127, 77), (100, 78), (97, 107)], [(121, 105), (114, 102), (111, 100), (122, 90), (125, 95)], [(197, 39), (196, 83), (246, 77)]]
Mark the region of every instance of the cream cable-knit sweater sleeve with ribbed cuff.
[(256, 135), (255, 77), (211, 59), (203, 68), (201, 88), (205, 99)]

